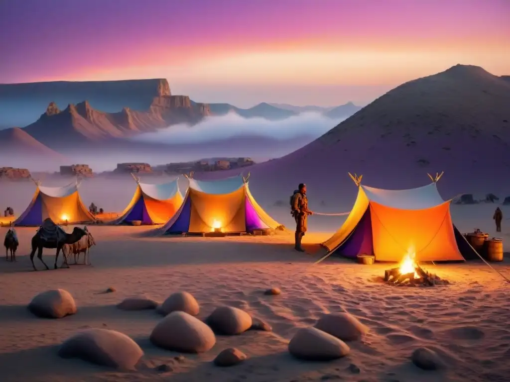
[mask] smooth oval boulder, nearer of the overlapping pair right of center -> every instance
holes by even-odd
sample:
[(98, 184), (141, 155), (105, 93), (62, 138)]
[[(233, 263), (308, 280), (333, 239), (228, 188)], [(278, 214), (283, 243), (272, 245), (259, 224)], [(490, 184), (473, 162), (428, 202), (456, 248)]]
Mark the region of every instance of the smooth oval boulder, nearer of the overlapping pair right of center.
[(331, 361), (347, 356), (349, 346), (316, 328), (299, 329), (289, 342), (289, 352), (307, 361)]

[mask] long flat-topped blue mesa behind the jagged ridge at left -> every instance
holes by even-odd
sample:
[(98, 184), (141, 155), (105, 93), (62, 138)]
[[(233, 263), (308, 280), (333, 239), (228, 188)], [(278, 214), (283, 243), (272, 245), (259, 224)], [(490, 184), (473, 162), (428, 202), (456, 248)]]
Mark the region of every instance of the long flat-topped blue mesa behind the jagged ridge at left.
[(0, 126), (26, 126), (40, 117), (49, 102), (58, 110), (86, 99), (97, 110), (115, 113), (123, 107), (146, 111), (154, 97), (166, 96), (171, 91), (163, 78), (0, 84)]

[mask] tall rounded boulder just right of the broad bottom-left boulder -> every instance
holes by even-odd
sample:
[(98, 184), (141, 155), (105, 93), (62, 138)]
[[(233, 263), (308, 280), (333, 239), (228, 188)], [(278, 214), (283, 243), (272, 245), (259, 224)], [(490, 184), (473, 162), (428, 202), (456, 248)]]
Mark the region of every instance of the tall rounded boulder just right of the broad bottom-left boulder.
[(172, 312), (152, 330), (150, 341), (167, 350), (200, 353), (216, 343), (209, 326), (185, 312)]

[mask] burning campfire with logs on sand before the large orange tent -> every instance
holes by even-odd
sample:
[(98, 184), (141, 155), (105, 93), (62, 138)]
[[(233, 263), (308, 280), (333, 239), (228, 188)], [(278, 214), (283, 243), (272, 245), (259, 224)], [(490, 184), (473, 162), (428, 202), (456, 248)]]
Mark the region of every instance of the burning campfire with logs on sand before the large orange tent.
[(448, 284), (446, 280), (441, 280), (437, 275), (430, 274), (419, 266), (416, 254), (412, 250), (407, 251), (398, 267), (385, 270), (384, 281), (390, 284), (409, 286)]

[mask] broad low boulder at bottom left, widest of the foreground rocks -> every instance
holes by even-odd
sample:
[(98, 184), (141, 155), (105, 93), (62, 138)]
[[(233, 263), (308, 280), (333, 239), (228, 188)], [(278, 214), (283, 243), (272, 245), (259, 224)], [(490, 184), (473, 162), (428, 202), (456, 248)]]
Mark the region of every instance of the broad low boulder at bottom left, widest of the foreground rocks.
[(80, 358), (101, 366), (133, 370), (143, 351), (125, 334), (108, 329), (87, 329), (65, 340), (58, 354), (62, 358)]

